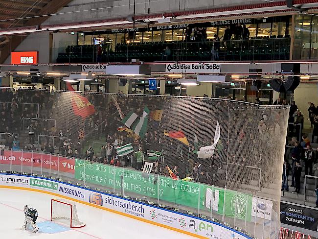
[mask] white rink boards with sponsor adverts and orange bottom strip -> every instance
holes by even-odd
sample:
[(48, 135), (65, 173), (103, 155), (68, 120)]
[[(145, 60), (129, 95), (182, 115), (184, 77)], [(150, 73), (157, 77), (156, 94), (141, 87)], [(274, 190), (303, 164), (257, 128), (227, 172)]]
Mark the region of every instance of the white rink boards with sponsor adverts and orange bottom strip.
[[(155, 224), (198, 238), (243, 239), (248, 236), (222, 224), (168, 211), (156, 206), (117, 197), (111, 194), (84, 189), (51, 179), (28, 175), (0, 173), (0, 187), (44, 192), (84, 203), (116, 214)], [(79, 215), (81, 218), (81, 215)], [(87, 222), (88, 223), (88, 222)]]

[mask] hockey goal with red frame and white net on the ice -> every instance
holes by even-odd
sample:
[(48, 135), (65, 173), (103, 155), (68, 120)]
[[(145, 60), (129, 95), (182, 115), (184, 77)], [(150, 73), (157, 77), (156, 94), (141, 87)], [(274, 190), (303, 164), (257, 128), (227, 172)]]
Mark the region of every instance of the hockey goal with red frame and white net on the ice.
[(84, 227), (77, 215), (76, 204), (65, 199), (51, 199), (51, 221), (59, 220), (70, 228)]

